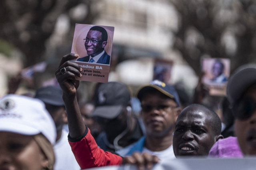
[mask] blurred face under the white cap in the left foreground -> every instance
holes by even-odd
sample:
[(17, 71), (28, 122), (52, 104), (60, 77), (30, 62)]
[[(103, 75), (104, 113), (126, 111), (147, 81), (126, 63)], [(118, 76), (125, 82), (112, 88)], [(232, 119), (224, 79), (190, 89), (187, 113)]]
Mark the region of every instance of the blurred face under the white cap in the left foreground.
[(32, 136), (0, 132), (0, 170), (42, 170), (48, 163)]

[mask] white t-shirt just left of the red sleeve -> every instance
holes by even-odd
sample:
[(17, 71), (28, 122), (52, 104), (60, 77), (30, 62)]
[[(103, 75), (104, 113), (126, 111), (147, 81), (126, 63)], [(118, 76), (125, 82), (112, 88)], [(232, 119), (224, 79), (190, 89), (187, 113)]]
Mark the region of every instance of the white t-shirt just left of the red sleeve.
[(60, 139), (53, 147), (55, 153), (54, 170), (81, 170), (68, 143), (68, 132), (62, 129)]

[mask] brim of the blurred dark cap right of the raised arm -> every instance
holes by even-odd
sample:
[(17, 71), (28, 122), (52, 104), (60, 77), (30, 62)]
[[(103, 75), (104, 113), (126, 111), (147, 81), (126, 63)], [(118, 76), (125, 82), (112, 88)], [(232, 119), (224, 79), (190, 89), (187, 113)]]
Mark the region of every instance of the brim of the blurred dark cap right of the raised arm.
[(117, 117), (124, 106), (98, 106), (94, 109), (92, 116), (104, 117), (106, 119), (114, 119)]

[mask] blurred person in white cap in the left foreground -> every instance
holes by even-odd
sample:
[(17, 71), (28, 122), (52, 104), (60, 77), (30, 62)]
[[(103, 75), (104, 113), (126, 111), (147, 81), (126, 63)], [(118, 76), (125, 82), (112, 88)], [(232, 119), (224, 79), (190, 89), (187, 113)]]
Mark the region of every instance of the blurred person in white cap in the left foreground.
[(42, 101), (14, 94), (0, 99), (1, 170), (53, 170), (55, 141)]

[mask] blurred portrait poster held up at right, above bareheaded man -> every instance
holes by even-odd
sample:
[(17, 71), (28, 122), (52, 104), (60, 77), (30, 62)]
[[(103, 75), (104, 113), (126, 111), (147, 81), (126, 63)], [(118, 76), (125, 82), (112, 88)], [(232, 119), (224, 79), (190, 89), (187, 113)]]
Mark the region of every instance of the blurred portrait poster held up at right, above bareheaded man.
[(203, 83), (212, 96), (226, 96), (226, 86), (230, 75), (230, 59), (206, 58), (202, 62)]

